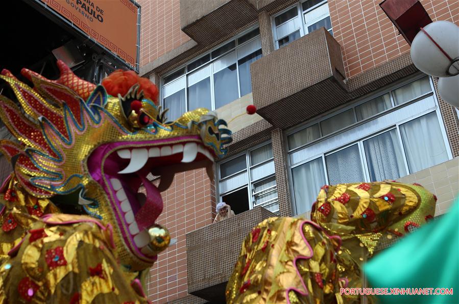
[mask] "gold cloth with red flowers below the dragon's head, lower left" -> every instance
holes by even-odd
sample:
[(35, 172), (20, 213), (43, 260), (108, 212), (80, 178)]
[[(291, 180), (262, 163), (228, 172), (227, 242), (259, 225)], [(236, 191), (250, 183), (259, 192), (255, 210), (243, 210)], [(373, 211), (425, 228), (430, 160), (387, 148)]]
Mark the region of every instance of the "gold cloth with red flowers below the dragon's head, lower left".
[(112, 237), (88, 216), (36, 221), (0, 265), (0, 302), (146, 303), (139, 282), (120, 270)]

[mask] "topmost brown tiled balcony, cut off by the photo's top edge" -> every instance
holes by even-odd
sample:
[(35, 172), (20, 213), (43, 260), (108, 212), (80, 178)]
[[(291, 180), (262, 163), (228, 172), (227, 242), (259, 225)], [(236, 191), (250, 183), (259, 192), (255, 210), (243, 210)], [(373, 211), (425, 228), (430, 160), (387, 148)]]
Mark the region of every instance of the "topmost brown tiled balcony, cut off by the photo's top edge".
[(214, 43), (257, 20), (246, 0), (180, 0), (182, 31), (198, 43)]

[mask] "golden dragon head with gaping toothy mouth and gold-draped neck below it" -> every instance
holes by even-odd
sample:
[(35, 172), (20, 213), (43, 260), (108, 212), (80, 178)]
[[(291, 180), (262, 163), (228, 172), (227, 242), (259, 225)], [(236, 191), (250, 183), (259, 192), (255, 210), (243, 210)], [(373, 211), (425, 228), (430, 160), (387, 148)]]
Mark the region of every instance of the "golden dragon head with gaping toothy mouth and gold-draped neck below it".
[(142, 270), (171, 240), (156, 224), (160, 192), (177, 172), (212, 177), (231, 132), (203, 108), (167, 122), (157, 88), (132, 71), (96, 86), (58, 67), (57, 80), (23, 69), (33, 88), (0, 75), (16, 99), (0, 96), (15, 137), (0, 142), (13, 166), (0, 189), (0, 302), (147, 302)]

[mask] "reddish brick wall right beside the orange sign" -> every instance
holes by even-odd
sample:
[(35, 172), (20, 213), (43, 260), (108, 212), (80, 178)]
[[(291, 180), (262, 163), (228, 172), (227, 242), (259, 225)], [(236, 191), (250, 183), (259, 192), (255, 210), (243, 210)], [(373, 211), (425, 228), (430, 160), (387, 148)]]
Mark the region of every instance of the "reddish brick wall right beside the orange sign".
[(138, 0), (140, 67), (190, 40), (180, 30), (180, 0)]

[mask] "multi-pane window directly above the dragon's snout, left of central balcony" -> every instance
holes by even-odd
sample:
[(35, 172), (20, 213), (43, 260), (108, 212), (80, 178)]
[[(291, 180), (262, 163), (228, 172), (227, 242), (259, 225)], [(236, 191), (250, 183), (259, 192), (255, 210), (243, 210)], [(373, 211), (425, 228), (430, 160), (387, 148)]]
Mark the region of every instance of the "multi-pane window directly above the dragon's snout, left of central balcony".
[(216, 109), (252, 92), (250, 64), (261, 58), (255, 29), (162, 78), (162, 104), (174, 121), (199, 107)]

